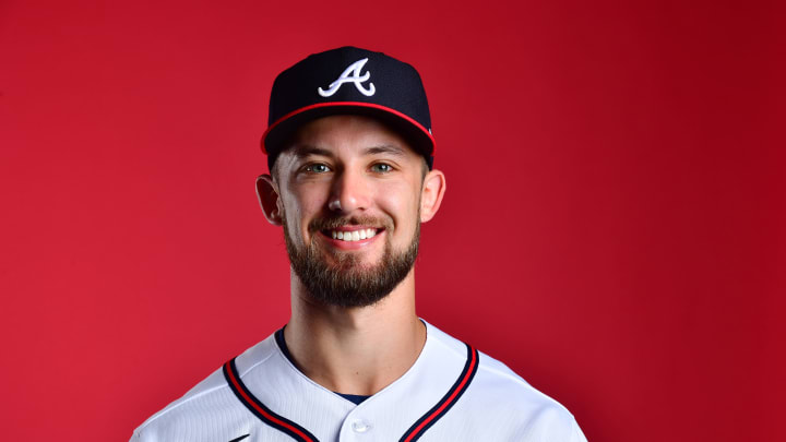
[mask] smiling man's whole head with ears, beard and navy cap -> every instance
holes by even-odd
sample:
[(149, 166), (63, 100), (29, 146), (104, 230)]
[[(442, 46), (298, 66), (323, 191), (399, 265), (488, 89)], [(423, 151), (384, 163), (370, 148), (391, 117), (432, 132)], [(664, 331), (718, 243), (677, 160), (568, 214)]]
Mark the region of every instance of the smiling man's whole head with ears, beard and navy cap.
[[(353, 57), (359, 50), (334, 51), (343, 49), (350, 49)], [(380, 75), (373, 85), (361, 83), (377, 77), (370, 68), (364, 73), (354, 64), (314, 91), (323, 96), (343, 87), (350, 96), (320, 101), (315, 114), (307, 105), (271, 123), (263, 139), (273, 158), (271, 175), (257, 182), (265, 216), (284, 226), (293, 271), (315, 301), (338, 307), (372, 304), (410, 275), (419, 225), (436, 214), (445, 189), (442, 172), (429, 170), (430, 131), (374, 104), (373, 96), (385, 89), (385, 77)], [(281, 101), (276, 84), (273, 97)], [(418, 94), (425, 100), (421, 85)], [(367, 100), (347, 101), (356, 95)]]

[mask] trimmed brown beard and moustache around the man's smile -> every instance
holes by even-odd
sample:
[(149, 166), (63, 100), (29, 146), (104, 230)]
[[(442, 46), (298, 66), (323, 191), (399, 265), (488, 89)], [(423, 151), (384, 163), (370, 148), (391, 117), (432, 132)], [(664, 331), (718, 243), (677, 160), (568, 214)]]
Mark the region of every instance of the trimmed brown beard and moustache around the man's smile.
[[(380, 226), (376, 219), (352, 218), (348, 222), (340, 218), (315, 219), (309, 225), (311, 242), (298, 248), (291, 240), (289, 228), (284, 219), (284, 241), (286, 242), (289, 262), (295, 274), (306, 286), (311, 298), (324, 306), (367, 307), (372, 306), (388, 296), (409, 274), (418, 253), (420, 223), (415, 226), (415, 235), (403, 252), (394, 252), (390, 236), (385, 236), (382, 259), (377, 265), (362, 265), (358, 256), (350, 252), (332, 252), (333, 263), (329, 263), (315, 243), (320, 230), (336, 228), (344, 225)], [(416, 219), (419, 219), (419, 214)], [(385, 225), (390, 232), (390, 224)]]

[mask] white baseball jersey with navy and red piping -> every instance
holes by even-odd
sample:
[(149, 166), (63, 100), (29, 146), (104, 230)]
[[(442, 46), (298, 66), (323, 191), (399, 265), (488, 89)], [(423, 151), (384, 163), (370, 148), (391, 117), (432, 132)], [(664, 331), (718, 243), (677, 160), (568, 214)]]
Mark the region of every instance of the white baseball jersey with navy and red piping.
[(359, 405), (302, 374), (275, 335), (133, 433), (139, 442), (586, 442), (573, 416), (503, 363), (426, 323), (412, 368)]

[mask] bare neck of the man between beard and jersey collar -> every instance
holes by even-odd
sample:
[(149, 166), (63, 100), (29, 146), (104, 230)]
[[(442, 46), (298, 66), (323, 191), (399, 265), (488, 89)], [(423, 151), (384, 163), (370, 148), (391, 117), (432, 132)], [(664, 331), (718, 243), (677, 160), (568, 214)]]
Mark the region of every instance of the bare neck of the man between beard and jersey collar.
[(377, 304), (352, 309), (314, 303), (293, 275), (291, 309), (284, 338), (295, 363), (337, 393), (379, 392), (415, 363), (426, 343), (414, 271)]

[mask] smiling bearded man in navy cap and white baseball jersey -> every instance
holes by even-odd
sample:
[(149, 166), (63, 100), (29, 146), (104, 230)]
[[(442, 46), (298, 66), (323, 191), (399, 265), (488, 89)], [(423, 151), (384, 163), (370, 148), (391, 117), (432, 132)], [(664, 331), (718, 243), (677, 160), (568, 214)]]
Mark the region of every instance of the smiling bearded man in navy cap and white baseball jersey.
[(345, 47), (273, 84), (257, 190), (291, 319), (134, 432), (142, 441), (585, 441), (571, 414), (420, 320), (420, 223), (445, 191), (417, 71)]

